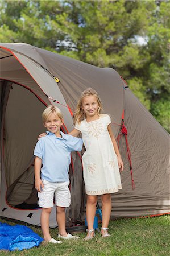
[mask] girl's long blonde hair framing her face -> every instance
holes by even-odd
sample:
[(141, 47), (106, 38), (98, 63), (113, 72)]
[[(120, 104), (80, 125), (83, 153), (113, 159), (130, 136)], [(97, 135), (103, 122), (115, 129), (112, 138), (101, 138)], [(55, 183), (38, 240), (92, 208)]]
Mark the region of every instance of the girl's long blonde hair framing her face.
[(87, 96), (95, 96), (98, 102), (98, 115), (101, 114), (102, 111), (102, 102), (101, 99), (98, 95), (98, 93), (96, 92), (96, 90), (93, 90), (92, 88), (88, 88), (86, 90), (84, 90), (84, 92), (81, 93), (80, 99), (78, 100), (78, 104), (77, 104), (77, 108), (76, 108), (76, 112), (74, 113), (74, 124), (75, 123), (80, 123), (82, 120), (84, 120), (86, 118), (85, 112), (84, 110), (81, 108), (82, 107), (82, 100), (84, 97)]

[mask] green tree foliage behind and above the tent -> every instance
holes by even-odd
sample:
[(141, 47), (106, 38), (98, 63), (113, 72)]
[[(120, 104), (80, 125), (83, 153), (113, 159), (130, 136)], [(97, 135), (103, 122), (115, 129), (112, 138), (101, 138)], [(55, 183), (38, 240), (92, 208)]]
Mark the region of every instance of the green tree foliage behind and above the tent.
[(169, 10), (169, 0), (1, 0), (0, 41), (116, 69), (168, 130)]

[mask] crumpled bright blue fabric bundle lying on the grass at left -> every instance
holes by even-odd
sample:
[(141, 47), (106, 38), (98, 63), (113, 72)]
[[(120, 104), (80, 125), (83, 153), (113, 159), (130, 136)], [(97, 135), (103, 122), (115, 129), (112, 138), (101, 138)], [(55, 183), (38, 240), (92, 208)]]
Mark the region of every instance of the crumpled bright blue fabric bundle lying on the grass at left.
[(10, 226), (0, 222), (0, 250), (23, 250), (40, 245), (43, 238), (23, 225)]

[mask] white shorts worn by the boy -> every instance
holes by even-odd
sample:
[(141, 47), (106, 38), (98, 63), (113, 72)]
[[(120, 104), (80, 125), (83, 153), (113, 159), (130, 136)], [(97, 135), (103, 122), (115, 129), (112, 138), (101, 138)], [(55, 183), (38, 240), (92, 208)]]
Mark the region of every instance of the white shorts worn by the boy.
[(49, 182), (42, 179), (44, 188), (42, 192), (38, 192), (39, 207), (50, 208), (55, 205), (59, 207), (69, 207), (71, 204), (71, 193), (68, 185), (69, 181), (65, 182)]

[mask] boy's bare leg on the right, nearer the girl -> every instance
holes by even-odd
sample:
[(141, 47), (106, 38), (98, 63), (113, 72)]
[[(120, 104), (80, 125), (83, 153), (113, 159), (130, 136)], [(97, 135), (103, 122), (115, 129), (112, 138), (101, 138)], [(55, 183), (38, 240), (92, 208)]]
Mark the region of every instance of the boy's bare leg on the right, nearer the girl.
[(67, 237), (67, 232), (65, 230), (65, 207), (56, 207), (56, 220), (59, 226), (59, 234), (61, 236)]

